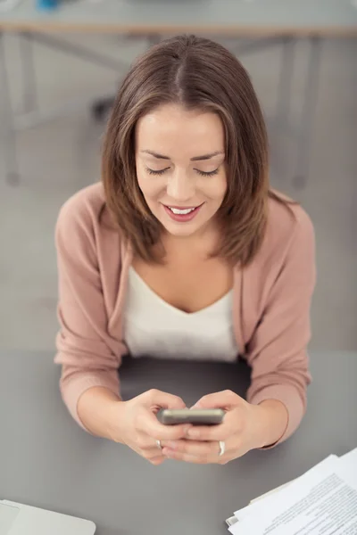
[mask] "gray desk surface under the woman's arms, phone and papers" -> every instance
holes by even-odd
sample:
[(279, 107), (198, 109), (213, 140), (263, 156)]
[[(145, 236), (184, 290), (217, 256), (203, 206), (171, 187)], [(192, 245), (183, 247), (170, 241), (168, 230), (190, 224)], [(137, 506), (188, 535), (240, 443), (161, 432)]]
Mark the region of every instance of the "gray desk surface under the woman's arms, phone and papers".
[[(52, 358), (0, 354), (0, 498), (89, 518), (98, 535), (223, 534), (223, 520), (250, 499), (357, 446), (357, 353), (312, 354), (309, 411), (294, 437), (225, 466), (154, 467), (81, 431), (62, 406)], [(188, 404), (225, 388), (243, 393), (249, 374), (241, 363), (141, 360), (124, 364), (121, 379), (126, 398), (156, 387)]]

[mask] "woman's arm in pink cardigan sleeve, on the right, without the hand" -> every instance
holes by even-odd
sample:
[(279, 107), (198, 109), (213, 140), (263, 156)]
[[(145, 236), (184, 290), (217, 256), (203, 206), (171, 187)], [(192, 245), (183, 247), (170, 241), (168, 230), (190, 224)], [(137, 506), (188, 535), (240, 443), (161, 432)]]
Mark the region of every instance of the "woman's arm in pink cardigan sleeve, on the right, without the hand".
[[(286, 440), (300, 424), (306, 409), (306, 388), (311, 381), (307, 345), (315, 285), (314, 232), (303, 210), (298, 210), (295, 217), (295, 231), (283, 267), (246, 353), (252, 366), (247, 400), (255, 405), (277, 400), (286, 407), (288, 421), (278, 442)], [(270, 419), (274, 419), (276, 409), (268, 409)]]

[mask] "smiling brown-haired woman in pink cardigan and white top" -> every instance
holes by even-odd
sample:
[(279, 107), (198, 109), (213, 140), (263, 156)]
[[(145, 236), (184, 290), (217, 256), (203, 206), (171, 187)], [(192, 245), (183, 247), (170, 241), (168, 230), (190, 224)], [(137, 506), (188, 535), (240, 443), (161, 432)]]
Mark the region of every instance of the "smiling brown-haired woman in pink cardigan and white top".
[[(200, 37), (155, 45), (124, 79), (104, 139), (103, 183), (62, 207), (56, 244), (62, 397), (88, 432), (154, 465), (227, 463), (286, 440), (303, 417), (314, 238), (270, 191), (262, 111), (243, 66)], [(121, 401), (120, 358), (252, 366), (247, 400), (212, 393), (223, 424), (164, 426), (148, 391)]]

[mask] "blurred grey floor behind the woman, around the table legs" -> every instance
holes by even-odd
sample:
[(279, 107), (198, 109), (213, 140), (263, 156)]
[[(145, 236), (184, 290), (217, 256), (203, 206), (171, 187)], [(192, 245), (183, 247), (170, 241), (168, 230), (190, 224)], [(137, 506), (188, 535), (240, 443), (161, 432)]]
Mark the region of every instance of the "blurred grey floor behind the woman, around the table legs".
[[(70, 37), (66, 37), (70, 38)], [(123, 46), (115, 37), (71, 37), (95, 50), (131, 59), (145, 43)], [(6, 40), (15, 109), (21, 106), (18, 40)], [(304, 45), (295, 76), (299, 103)], [(35, 45), (40, 103), (110, 95), (116, 74)], [(253, 77), (267, 115), (276, 105), (279, 49), (241, 59)], [(308, 184), (295, 190), (289, 170), (294, 151), (272, 138), (286, 163), (272, 184), (303, 203), (315, 224), (318, 285), (312, 307), (311, 347), (357, 349), (357, 41), (328, 40), (322, 54), (320, 98)], [(1, 120), (1, 117), (0, 117)], [(88, 110), (18, 135), (21, 185), (4, 184), (0, 159), (0, 347), (54, 349), (57, 330), (54, 222), (72, 193), (99, 179), (103, 127)], [(1, 152), (0, 152), (1, 154)], [(0, 157), (1, 158), (1, 157)], [(354, 210), (353, 210), (354, 209)]]

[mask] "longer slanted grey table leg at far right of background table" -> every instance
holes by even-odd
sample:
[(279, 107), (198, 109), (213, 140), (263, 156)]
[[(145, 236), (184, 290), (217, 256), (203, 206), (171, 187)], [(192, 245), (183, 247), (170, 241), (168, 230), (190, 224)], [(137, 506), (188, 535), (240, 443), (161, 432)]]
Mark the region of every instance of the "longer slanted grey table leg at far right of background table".
[(310, 54), (303, 91), (303, 106), (298, 130), (297, 159), (293, 184), (296, 188), (306, 185), (309, 173), (310, 147), (313, 121), (319, 95), (321, 38), (310, 37)]

